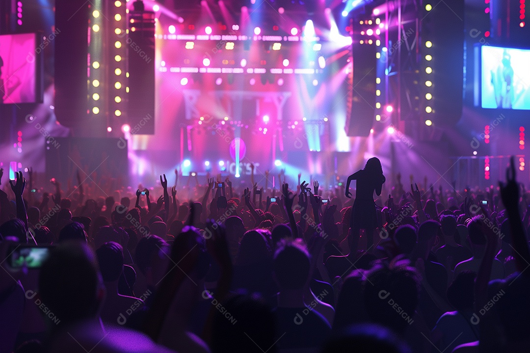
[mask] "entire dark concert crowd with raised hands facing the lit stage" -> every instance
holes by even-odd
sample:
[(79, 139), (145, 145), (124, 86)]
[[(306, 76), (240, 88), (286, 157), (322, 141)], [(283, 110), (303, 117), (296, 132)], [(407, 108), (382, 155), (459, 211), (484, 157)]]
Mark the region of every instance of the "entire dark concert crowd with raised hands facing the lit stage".
[(513, 160), (498, 187), (410, 192), (377, 158), (330, 189), (2, 174), (0, 353), (530, 351)]

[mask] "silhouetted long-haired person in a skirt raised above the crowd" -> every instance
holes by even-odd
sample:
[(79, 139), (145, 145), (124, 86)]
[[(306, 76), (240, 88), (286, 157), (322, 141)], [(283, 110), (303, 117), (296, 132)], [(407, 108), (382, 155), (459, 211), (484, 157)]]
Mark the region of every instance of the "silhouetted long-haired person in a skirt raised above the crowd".
[(351, 198), (350, 183), (357, 180), (354, 207), (351, 211), (351, 236), (359, 238), (361, 229), (365, 230), (367, 250), (374, 243), (374, 230), (377, 228), (377, 213), (374, 202), (374, 191), (381, 195), (381, 188), (386, 178), (383, 175), (381, 161), (376, 157), (368, 159), (364, 169), (348, 177), (346, 183), (346, 197)]

